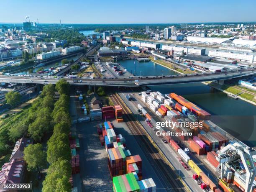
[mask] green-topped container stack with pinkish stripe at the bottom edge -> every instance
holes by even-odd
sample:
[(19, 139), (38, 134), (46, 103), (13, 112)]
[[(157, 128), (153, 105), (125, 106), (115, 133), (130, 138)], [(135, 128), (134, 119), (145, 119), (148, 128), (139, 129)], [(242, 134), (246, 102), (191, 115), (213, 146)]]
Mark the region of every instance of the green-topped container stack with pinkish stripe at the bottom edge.
[(139, 192), (140, 186), (134, 174), (128, 173), (113, 177), (113, 190), (114, 192)]

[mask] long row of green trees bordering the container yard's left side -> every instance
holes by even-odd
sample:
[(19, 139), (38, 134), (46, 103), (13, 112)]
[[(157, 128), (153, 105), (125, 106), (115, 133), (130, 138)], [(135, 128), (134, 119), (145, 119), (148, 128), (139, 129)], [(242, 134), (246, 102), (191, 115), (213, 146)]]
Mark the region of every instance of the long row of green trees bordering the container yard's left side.
[(69, 178), (71, 171), (71, 152), (68, 134), (71, 127), (69, 115), (70, 85), (65, 79), (56, 84), (56, 90), (61, 94), (54, 104), (53, 135), (47, 142), (47, 161), (50, 164), (43, 182), (43, 192), (71, 191)]

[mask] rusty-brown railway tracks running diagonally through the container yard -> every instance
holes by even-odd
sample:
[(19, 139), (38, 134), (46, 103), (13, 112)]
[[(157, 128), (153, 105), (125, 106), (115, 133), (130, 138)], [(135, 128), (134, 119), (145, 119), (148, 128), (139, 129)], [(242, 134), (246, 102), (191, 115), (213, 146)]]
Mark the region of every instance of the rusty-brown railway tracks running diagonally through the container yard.
[[(136, 137), (138, 145), (144, 151), (150, 164), (154, 167), (154, 170), (158, 177), (161, 179), (161, 183), (166, 191), (179, 191), (185, 192), (189, 189), (182, 183), (174, 170), (166, 163), (164, 156), (161, 156), (161, 152), (157, 149), (146, 136), (147, 133), (141, 124), (134, 118), (129, 108), (125, 105), (123, 100), (118, 95), (110, 95), (115, 105), (120, 105), (123, 108), (123, 118), (127, 123), (129, 130)], [(160, 189), (159, 189), (160, 190)]]

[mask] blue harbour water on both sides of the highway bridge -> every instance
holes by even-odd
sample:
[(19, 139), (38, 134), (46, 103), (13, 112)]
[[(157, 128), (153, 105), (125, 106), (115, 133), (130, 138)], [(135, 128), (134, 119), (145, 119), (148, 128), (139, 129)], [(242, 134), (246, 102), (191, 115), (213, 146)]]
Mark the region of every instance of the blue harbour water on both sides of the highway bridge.
[[(136, 75), (177, 74), (166, 67), (150, 62), (121, 60), (119, 63), (129, 72)], [(225, 93), (212, 89), (203, 83), (187, 83), (174, 85), (149, 86), (153, 91), (163, 94), (175, 92), (200, 108), (212, 114), (212, 121), (249, 146), (256, 146), (256, 106), (243, 100), (234, 100)]]

